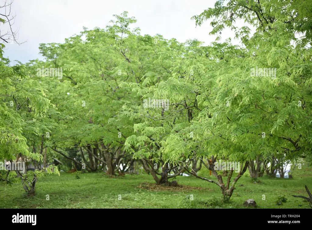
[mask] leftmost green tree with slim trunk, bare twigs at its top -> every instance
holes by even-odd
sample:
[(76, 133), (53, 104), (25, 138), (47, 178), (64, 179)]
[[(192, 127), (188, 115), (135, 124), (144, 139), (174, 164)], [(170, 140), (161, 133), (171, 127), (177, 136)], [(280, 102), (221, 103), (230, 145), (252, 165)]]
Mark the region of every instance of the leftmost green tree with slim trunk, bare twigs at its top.
[[(1, 34), (3, 42), (17, 42), (17, 31), (13, 31), (15, 16), (11, 14), (11, 2), (4, 2), (0, 6), (0, 22), (8, 26), (8, 32)], [(18, 43), (20, 44), (20, 43)], [(36, 182), (43, 171), (59, 174), (57, 167), (51, 165), (45, 169), (37, 168), (42, 159), (44, 132), (48, 130), (49, 119), (46, 113), (53, 108), (46, 98), (44, 90), (38, 82), (31, 79), (25, 66), (21, 63), (9, 66), (9, 59), (3, 58), (4, 45), (0, 44), (0, 160), (10, 161), (9, 169), (0, 169), (0, 180), (11, 183), (20, 179), (28, 195), (35, 194)], [(39, 152), (37, 148), (39, 147)], [(32, 148), (32, 151), (29, 149)], [(25, 162), (33, 160), (35, 172), (13, 169), (13, 161)]]

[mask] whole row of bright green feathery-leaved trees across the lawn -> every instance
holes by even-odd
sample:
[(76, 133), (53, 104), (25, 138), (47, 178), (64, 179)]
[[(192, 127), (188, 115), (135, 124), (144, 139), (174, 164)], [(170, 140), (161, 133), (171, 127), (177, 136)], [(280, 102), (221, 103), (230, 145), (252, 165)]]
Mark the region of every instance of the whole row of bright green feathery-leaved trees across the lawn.
[[(188, 172), (226, 199), (247, 169), (283, 176), (285, 162), (312, 161), (311, 12), (302, 0), (218, 0), (193, 17), (210, 21), (208, 46), (142, 36), (124, 12), (105, 29), (40, 44), (45, 61), (10, 67), (2, 57), (0, 159), (62, 156), (109, 175), (139, 161), (157, 184)], [(218, 42), (225, 28), (240, 45)], [(239, 172), (223, 181), (219, 160), (239, 162)], [(216, 179), (198, 175), (202, 166)], [(35, 187), (42, 171), (1, 178)]]

